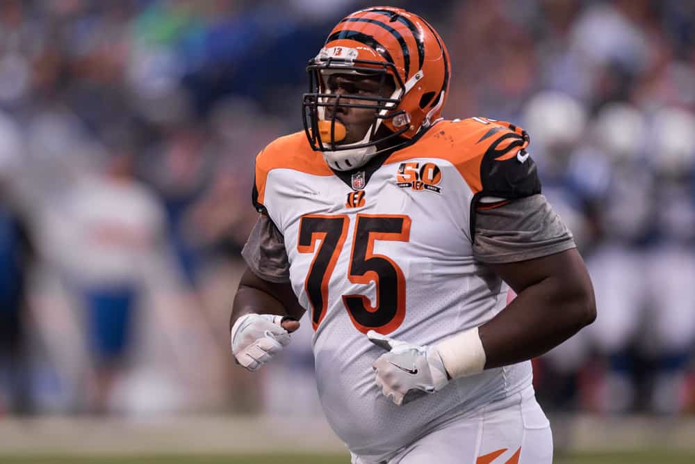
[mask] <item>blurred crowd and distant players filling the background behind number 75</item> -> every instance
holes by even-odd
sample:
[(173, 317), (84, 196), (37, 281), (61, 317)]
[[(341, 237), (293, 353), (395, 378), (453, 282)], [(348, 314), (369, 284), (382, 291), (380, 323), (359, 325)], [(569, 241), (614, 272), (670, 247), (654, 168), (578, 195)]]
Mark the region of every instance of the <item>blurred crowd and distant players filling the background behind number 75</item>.
[[(534, 361), (559, 448), (582, 418), (621, 424), (582, 435), (599, 444), (691, 424), (695, 2), (391, 4), (448, 45), (445, 117), (529, 132), (591, 271), (596, 323)], [(26, 416), (320, 421), (310, 325), (252, 375), (234, 366), (227, 321), (254, 156), (301, 129), (306, 61), (363, 6), (0, 1), (0, 429)]]

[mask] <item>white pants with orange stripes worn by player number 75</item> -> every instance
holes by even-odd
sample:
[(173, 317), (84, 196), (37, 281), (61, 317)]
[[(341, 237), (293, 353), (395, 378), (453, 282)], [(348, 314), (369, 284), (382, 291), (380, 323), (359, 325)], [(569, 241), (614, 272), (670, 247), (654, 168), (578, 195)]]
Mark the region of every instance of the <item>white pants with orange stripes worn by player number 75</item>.
[(553, 435), (533, 388), (458, 417), (386, 461), (352, 464), (550, 464)]

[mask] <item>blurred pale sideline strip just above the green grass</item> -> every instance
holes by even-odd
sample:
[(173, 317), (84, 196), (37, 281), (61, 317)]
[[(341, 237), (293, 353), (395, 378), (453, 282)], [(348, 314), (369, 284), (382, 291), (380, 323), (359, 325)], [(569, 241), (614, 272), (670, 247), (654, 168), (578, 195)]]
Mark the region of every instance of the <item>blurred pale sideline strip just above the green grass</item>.
[[(695, 417), (550, 415), (556, 451), (695, 451)], [(343, 453), (325, 419), (0, 418), (0, 454)]]

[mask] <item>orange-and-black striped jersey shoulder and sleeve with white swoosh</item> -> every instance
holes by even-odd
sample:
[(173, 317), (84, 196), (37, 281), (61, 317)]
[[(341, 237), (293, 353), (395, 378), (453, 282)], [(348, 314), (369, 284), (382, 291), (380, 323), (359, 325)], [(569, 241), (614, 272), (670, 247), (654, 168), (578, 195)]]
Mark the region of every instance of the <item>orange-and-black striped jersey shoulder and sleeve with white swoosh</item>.
[[(457, 168), (474, 194), (502, 198), (525, 196), (518, 182), (537, 184), (537, 172), (526, 148), (530, 138), (516, 125), (486, 118), (441, 121), (417, 143), (395, 152), (386, 163), (414, 157), (445, 159)], [(510, 182), (507, 182), (507, 181)], [(540, 184), (538, 182), (538, 189)]]

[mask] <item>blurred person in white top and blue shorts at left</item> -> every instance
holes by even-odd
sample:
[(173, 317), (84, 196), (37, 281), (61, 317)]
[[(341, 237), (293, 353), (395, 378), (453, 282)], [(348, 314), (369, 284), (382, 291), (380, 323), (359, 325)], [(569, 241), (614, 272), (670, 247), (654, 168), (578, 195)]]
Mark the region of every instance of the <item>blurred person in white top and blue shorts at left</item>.
[(106, 413), (140, 320), (137, 310), (161, 252), (163, 211), (133, 177), (129, 147), (111, 150), (104, 172), (81, 179), (67, 199), (72, 237), (65, 255), (85, 309), (92, 350), (88, 410)]

